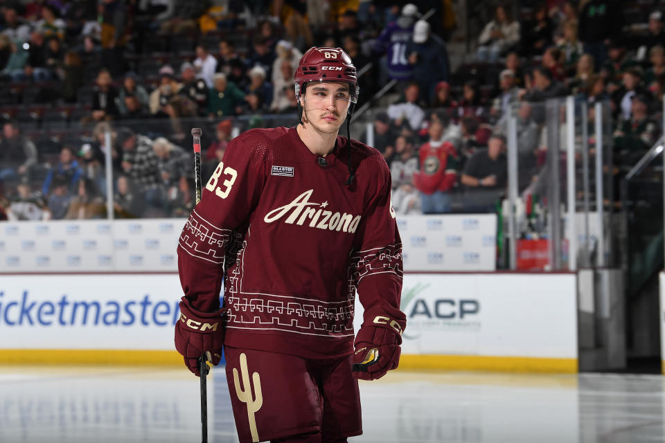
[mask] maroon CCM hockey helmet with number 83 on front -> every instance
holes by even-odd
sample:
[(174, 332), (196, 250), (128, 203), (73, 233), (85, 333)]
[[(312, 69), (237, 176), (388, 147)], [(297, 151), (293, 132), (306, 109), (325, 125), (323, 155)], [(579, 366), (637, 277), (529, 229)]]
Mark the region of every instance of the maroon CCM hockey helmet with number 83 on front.
[(351, 102), (358, 101), (358, 78), (351, 57), (342, 48), (309, 48), (293, 75), (296, 100), (307, 82), (351, 83)]

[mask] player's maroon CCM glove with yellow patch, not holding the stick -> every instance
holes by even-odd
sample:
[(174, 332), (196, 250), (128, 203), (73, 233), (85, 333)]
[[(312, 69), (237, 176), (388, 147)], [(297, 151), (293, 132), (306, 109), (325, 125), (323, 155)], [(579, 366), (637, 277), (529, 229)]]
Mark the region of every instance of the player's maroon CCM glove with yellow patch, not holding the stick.
[(387, 316), (375, 316), (371, 324), (365, 320), (355, 337), (353, 377), (362, 380), (380, 379), (389, 370), (397, 368), (405, 326), (404, 320), (398, 321)]

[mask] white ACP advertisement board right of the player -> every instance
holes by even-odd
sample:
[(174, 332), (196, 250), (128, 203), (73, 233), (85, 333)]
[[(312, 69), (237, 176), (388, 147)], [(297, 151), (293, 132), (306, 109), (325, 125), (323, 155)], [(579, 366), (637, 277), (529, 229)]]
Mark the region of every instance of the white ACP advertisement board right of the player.
[[(357, 330), (362, 324), (357, 300), (355, 309)], [(407, 360), (445, 356), (438, 359), (440, 367), (576, 370), (573, 273), (406, 274), (401, 309), (407, 316), (402, 335)]]

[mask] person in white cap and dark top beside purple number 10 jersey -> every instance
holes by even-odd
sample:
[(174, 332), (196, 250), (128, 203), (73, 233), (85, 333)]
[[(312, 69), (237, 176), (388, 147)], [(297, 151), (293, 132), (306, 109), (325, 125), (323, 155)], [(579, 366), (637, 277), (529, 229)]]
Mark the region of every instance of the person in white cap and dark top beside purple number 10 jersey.
[(447, 82), (450, 78), (445, 43), (430, 32), (427, 21), (418, 20), (414, 26), (413, 42), (407, 44), (406, 53), (414, 67), (414, 81), (420, 84), (420, 98), (428, 104), (432, 103), (436, 84)]

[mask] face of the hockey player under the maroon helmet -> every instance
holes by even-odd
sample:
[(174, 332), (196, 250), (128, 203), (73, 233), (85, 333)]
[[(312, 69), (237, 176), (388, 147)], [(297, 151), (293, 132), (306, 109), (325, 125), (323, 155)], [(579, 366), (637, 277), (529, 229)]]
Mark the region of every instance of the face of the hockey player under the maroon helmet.
[(351, 103), (348, 83), (314, 83), (308, 85), (301, 98), (305, 121), (325, 134), (339, 130)]

